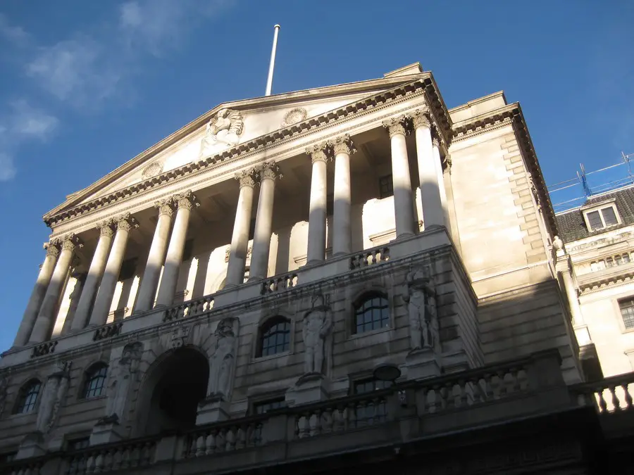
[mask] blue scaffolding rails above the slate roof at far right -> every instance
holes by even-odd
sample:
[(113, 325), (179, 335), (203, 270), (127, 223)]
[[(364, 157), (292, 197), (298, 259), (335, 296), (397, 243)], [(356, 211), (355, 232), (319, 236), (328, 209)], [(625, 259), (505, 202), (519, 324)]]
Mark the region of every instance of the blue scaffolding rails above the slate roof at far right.
[[(621, 186), (634, 184), (634, 175), (632, 174), (630, 160), (634, 160), (634, 153), (626, 155), (626, 153), (621, 152), (621, 160), (619, 163), (615, 163), (614, 165), (609, 165), (592, 172), (586, 172), (583, 163), (580, 163), (576, 178), (567, 179), (564, 182), (547, 186), (550, 201), (553, 203), (552, 207), (554, 208), (555, 213), (560, 213), (561, 211), (566, 211), (583, 205), (590, 196), (606, 193), (607, 191), (621, 188)], [(623, 167), (623, 165), (625, 165), (625, 168), (620, 168)], [(625, 173), (623, 174), (623, 172)], [(597, 179), (597, 184), (591, 184), (593, 179)], [(581, 187), (581, 193), (583, 193), (583, 196), (571, 195), (571, 192), (577, 194), (578, 188), (576, 187), (578, 186)], [(566, 191), (568, 196), (565, 198), (559, 198), (564, 201), (557, 201), (554, 194), (564, 190), (568, 190)], [(562, 195), (564, 194), (557, 194), (557, 197)], [(574, 197), (569, 198), (569, 196)]]

